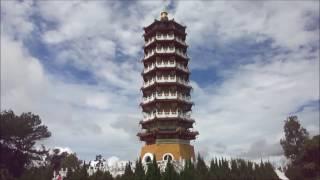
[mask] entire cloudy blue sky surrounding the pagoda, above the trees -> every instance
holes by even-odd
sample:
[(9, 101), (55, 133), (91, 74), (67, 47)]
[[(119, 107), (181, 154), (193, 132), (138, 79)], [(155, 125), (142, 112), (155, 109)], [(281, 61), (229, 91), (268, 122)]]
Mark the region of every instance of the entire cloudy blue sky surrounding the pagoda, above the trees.
[(39, 114), (82, 159), (143, 143), (143, 27), (187, 26), (192, 142), (206, 157), (282, 154), (284, 120), (319, 133), (319, 1), (1, 1), (1, 110)]

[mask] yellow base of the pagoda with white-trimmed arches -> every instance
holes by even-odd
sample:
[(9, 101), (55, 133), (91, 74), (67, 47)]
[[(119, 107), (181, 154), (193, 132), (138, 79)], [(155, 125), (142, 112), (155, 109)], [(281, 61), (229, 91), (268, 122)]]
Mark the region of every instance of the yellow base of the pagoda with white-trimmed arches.
[(152, 144), (145, 145), (141, 149), (141, 158), (146, 155), (155, 155), (156, 160), (163, 160), (166, 154), (173, 156), (173, 160), (195, 159), (194, 148), (190, 144)]

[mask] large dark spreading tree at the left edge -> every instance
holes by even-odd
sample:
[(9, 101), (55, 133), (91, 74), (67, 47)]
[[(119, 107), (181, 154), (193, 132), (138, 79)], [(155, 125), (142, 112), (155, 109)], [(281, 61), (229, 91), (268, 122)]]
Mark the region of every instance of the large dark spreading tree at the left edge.
[(0, 124), (0, 167), (18, 177), (26, 165), (40, 160), (47, 152), (44, 146), (39, 150), (34, 145), (50, 137), (51, 133), (47, 126), (41, 124), (40, 117), (31, 112), (17, 116), (13, 111), (3, 111)]

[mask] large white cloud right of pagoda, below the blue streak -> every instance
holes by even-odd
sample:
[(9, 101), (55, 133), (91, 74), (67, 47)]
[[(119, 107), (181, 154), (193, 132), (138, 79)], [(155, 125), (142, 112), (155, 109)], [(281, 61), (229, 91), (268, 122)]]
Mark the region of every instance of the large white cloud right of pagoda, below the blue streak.
[[(306, 59), (310, 55), (315, 58)], [(259, 61), (234, 69), (221, 85), (202, 91), (196, 88), (194, 115), (199, 141), (228, 142), (228, 150), (234, 154), (262, 139), (279, 143), (283, 120), (319, 98), (317, 58), (317, 52), (309, 51), (274, 56), (270, 63)], [(309, 117), (302, 116), (302, 124), (312, 131), (318, 129), (318, 111), (305, 111)]]

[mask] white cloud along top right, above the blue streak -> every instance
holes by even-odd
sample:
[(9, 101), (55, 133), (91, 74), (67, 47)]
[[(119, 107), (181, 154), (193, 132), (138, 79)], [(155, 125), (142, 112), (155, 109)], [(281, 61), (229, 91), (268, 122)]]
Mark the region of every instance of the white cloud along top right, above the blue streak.
[(174, 17), (189, 25), (188, 38), (193, 46), (232, 42), (248, 36), (257, 41), (271, 38), (274, 46), (285, 48), (317, 43), (318, 30), (306, 30), (310, 16), (317, 16), (317, 1), (178, 2)]

